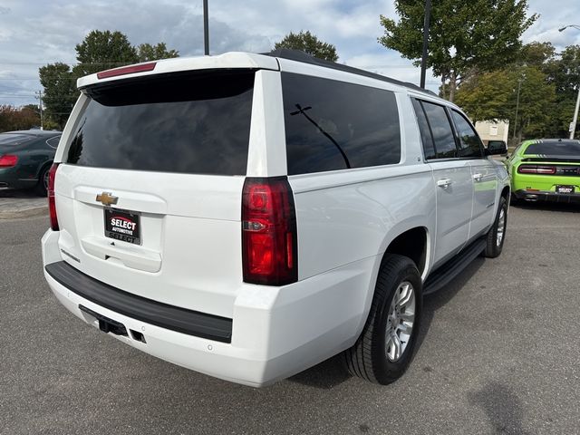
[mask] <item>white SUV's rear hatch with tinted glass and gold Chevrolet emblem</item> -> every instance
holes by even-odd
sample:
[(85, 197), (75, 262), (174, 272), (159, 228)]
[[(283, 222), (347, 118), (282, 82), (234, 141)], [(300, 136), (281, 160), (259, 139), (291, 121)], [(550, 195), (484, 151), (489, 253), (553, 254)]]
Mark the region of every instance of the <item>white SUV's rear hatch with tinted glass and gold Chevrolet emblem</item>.
[(134, 295), (232, 317), (255, 71), (94, 84), (55, 177), (63, 260)]

